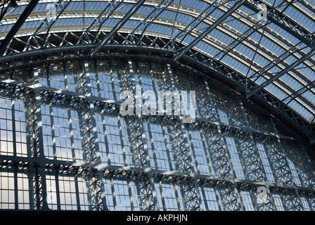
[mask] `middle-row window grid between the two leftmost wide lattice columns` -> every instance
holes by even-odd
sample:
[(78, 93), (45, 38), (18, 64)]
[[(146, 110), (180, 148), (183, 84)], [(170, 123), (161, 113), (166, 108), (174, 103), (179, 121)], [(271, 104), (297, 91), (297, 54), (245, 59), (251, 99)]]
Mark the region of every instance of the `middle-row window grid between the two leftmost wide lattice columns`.
[(44, 153), (47, 158), (87, 162), (89, 129), (84, 106), (42, 99)]

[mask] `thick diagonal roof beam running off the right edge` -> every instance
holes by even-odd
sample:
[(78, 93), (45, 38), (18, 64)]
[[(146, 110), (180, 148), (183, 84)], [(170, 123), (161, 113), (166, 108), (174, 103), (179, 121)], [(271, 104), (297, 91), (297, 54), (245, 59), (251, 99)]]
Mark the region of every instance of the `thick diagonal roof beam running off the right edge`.
[(309, 53), (307, 53), (305, 56), (303, 56), (302, 58), (300, 58), (299, 60), (297, 60), (295, 63), (291, 64), (290, 66), (288, 66), (287, 68), (285, 68), (284, 70), (282, 70), (281, 72), (278, 72), (278, 74), (276, 74), (274, 77), (271, 77), (270, 79), (268, 79), (266, 82), (264, 82), (263, 84), (260, 84), (259, 86), (257, 86), (257, 88), (255, 88), (254, 90), (248, 92), (248, 94), (246, 94), (247, 98), (250, 98), (252, 95), (256, 94), (257, 91), (260, 91), (262, 89), (264, 89), (265, 86), (268, 86), (269, 84), (271, 84), (272, 82), (274, 82), (276, 79), (278, 79), (279, 77), (285, 75), (285, 73), (289, 72), (290, 70), (292, 70), (293, 68), (295, 68), (297, 65), (299, 65), (300, 63), (303, 63), (305, 60), (307, 60), (308, 58), (310, 58), (311, 56), (313, 56), (315, 54), (315, 49), (311, 50)]

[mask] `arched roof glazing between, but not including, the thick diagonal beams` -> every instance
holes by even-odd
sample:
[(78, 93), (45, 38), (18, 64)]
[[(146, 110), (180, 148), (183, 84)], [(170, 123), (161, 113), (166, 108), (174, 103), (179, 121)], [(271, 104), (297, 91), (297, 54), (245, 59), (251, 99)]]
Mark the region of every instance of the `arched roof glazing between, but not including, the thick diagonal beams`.
[[(18, 1), (18, 7), (13, 8), (8, 6), (8, 2), (1, 0), (0, 3), (1, 14), (7, 8), (0, 21), (1, 41), (30, 4), (30, 1)], [(16, 41), (27, 46), (22, 51), (53, 47), (53, 44), (30, 46), (34, 42), (30, 37), (39, 34), (49, 36), (62, 30), (113, 30), (134, 9), (137, 2), (139, 1), (41, 0), (23, 21), (3, 56), (21, 52), (14, 49)], [(117, 32), (155, 34), (188, 46), (208, 27), (229, 13), (236, 2), (238, 1), (143, 1)], [(259, 7), (266, 7), (266, 10)], [(56, 13), (52, 20), (47, 19), (49, 11)], [(266, 20), (262, 18), (265, 12), (269, 13), (266, 14), (269, 15)], [(236, 8), (205, 37), (198, 39), (193, 49), (239, 72), (257, 86), (297, 63), (278, 79), (264, 86), (264, 90), (311, 124), (315, 117), (315, 54), (302, 58), (315, 49), (314, 32), (315, 0), (249, 0)], [(92, 41), (100, 43), (101, 40), (96, 38)], [(72, 43), (63, 41), (62, 45), (67, 44)], [(178, 53), (178, 49), (175, 51)]]

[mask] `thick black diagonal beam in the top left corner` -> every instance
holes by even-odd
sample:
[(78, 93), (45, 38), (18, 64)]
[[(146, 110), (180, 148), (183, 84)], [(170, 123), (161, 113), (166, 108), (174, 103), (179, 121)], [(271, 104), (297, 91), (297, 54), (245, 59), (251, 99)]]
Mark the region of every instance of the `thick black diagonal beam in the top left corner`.
[(18, 21), (13, 25), (10, 32), (8, 32), (8, 34), (6, 35), (6, 38), (3, 41), (1, 41), (0, 56), (4, 54), (4, 52), (6, 51), (6, 47), (8, 46), (10, 41), (13, 39), (14, 35), (18, 32), (20, 27), (22, 27), (23, 23), (25, 22), (27, 17), (30, 15), (30, 13), (32, 13), (35, 6), (37, 6), (38, 2), (39, 0), (30, 1), (30, 4), (26, 6), (25, 10), (20, 15), (20, 18), (18, 18)]

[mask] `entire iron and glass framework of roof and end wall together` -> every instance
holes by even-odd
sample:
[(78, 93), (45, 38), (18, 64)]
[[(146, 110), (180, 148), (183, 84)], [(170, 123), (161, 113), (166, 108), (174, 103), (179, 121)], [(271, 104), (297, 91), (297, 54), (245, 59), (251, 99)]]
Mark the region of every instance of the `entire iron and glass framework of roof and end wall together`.
[[(1, 210), (315, 210), (314, 2), (1, 7)], [(195, 120), (122, 115), (137, 86)]]

